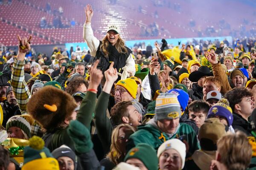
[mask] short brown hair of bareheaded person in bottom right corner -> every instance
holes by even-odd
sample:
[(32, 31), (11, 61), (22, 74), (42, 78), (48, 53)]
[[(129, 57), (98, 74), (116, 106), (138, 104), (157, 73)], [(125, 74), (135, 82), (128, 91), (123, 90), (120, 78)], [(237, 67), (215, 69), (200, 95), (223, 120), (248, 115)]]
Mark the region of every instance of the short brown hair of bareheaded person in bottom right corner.
[(228, 170), (245, 170), (252, 157), (252, 147), (245, 133), (228, 133), (217, 142), (220, 162)]

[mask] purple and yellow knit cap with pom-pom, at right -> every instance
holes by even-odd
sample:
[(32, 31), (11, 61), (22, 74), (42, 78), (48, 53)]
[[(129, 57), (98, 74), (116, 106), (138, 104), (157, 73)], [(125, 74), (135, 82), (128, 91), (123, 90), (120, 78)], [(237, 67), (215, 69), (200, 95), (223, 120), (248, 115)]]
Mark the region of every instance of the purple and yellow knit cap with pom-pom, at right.
[(220, 99), (215, 105), (213, 105), (207, 115), (207, 118), (222, 116), (227, 120), (228, 126), (232, 125), (233, 122), (233, 111), (229, 105), (227, 99)]

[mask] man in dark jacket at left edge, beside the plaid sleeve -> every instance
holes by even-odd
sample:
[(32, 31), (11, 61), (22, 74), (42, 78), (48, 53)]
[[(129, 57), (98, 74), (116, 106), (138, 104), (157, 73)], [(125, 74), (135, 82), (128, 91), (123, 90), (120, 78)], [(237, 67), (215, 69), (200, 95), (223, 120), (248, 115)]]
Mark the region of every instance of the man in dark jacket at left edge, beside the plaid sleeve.
[(3, 108), (3, 127), (6, 127), (6, 122), (10, 117), (15, 115), (21, 115), (20, 108), (17, 104), (16, 98), (12, 90), (12, 86), (9, 86), (7, 88), (6, 94), (7, 101), (4, 103), (0, 103)]

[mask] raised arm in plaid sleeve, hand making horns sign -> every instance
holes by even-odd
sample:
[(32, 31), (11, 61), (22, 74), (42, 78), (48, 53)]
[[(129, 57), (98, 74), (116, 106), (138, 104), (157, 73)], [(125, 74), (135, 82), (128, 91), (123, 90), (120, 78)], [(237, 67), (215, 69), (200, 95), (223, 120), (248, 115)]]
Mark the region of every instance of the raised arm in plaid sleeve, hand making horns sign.
[(29, 36), (29, 39), (26, 37), (21, 39), (20, 35), (17, 35), (17, 39), (19, 51), (17, 59), (15, 59), (15, 62), (13, 63), (11, 85), (20, 111), (24, 113), (26, 112), (26, 104), (31, 97), (29, 88), (24, 79), (24, 65), (26, 52), (31, 49), (30, 42), (32, 40), (32, 35)]

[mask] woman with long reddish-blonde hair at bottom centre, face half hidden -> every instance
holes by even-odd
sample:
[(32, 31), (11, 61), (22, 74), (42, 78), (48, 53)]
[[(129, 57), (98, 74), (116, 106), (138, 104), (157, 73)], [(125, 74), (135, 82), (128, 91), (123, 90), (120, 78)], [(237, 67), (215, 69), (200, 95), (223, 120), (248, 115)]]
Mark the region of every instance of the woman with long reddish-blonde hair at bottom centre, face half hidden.
[(113, 129), (111, 136), (110, 152), (100, 163), (105, 170), (112, 170), (125, 158), (125, 147), (129, 136), (135, 132), (135, 128), (128, 124), (118, 125)]

